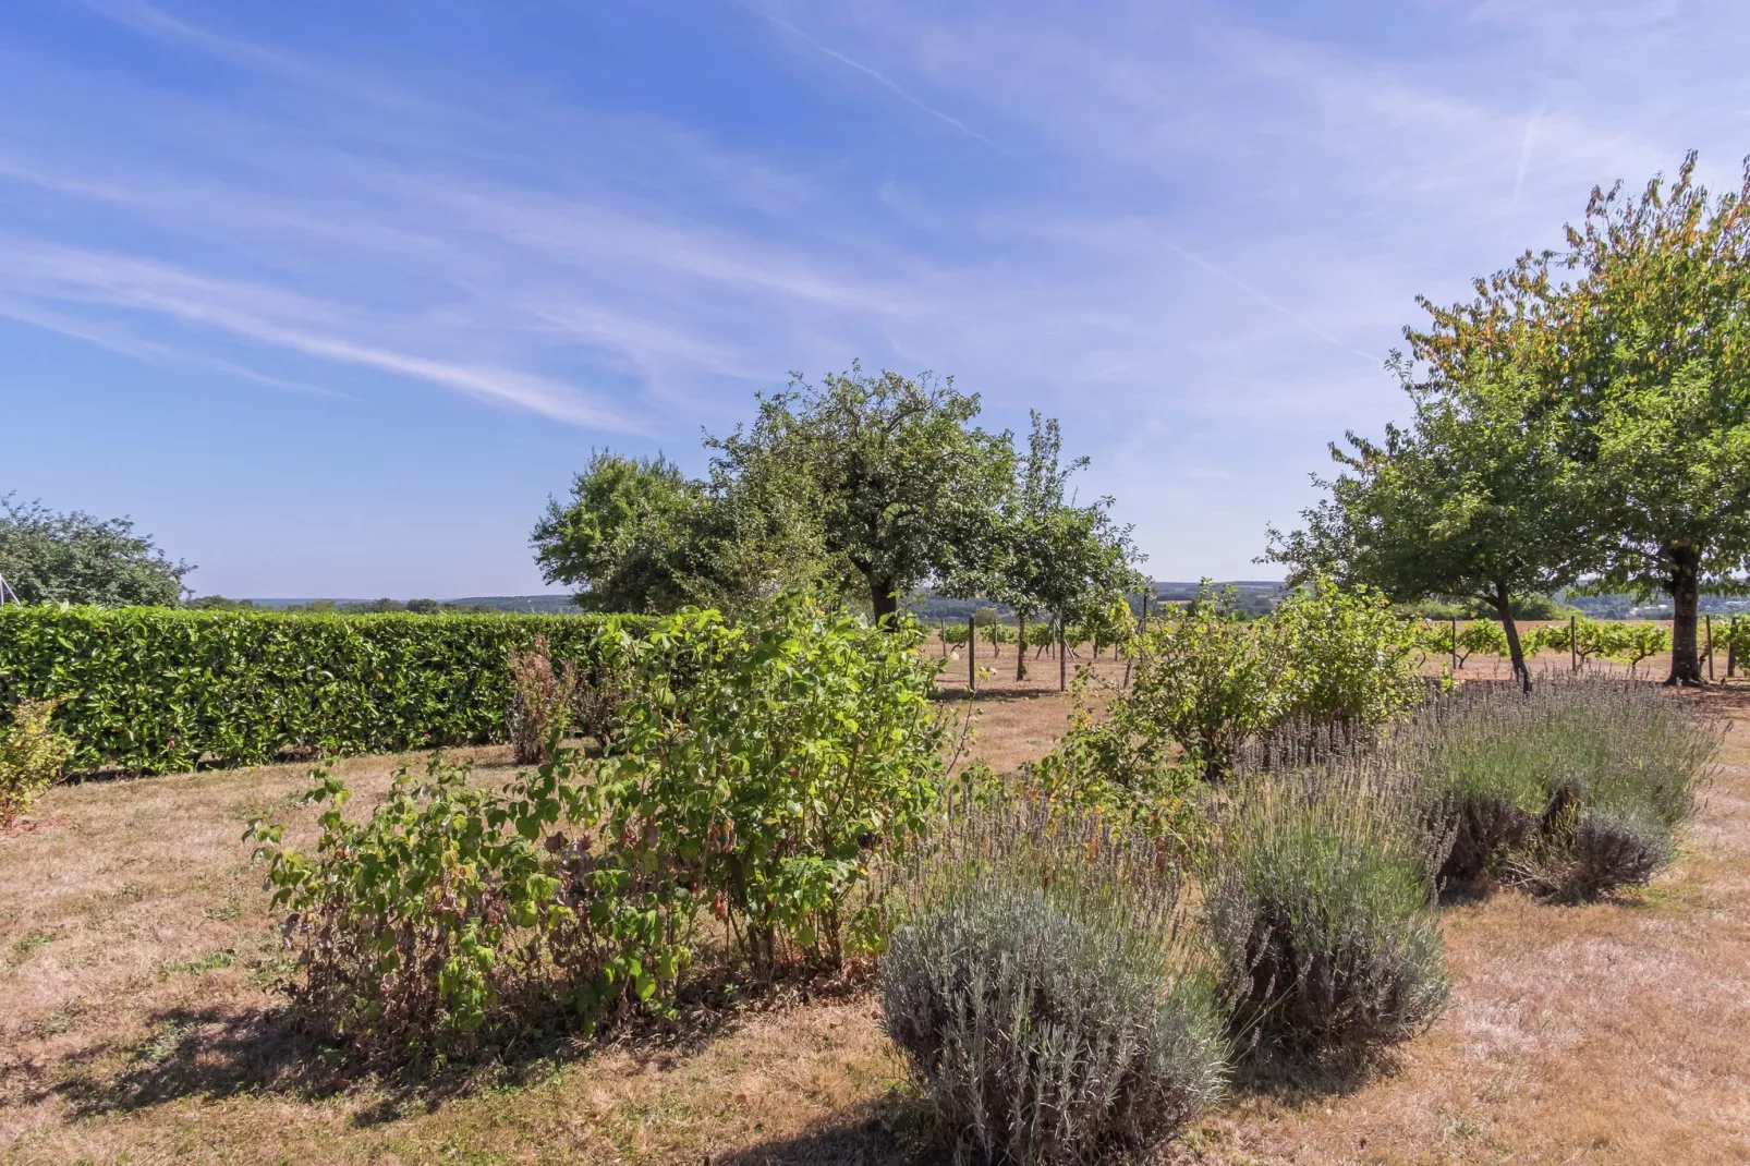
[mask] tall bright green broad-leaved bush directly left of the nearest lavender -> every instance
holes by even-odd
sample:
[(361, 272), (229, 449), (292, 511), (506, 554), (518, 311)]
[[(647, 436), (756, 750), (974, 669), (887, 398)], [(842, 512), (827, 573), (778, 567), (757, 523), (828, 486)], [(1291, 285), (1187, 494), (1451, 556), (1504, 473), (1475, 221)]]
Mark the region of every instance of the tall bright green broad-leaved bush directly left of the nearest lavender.
[(805, 595), (623, 637), (607, 828), (686, 863), (761, 973), (786, 952), (836, 965), (845, 896), (926, 821), (945, 730), (920, 639), (908, 616), (880, 630)]

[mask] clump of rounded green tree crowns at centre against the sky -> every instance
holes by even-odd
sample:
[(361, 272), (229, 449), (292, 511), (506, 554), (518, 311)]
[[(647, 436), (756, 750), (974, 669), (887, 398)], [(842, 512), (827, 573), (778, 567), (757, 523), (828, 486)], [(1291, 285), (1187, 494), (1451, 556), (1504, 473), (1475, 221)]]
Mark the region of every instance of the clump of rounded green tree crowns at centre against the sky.
[(877, 620), (920, 585), (1080, 620), (1138, 583), (1111, 499), (1080, 504), (1055, 420), (1027, 453), (978, 425), (976, 394), (894, 371), (793, 376), (751, 425), (707, 438), (705, 480), (597, 453), (534, 529), (550, 583), (598, 611), (746, 609), (798, 585)]

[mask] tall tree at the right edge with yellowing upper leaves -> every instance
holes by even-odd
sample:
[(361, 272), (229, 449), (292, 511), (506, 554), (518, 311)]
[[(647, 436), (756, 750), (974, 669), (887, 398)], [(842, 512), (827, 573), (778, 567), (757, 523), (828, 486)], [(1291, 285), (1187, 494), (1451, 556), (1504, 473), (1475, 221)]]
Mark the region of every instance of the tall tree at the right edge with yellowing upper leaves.
[(1745, 590), (1750, 565), (1750, 161), (1718, 200), (1676, 179), (1640, 198), (1592, 191), (1566, 263), (1573, 455), (1608, 532), (1601, 588), (1662, 590), (1675, 609), (1671, 681), (1701, 683), (1698, 595)]

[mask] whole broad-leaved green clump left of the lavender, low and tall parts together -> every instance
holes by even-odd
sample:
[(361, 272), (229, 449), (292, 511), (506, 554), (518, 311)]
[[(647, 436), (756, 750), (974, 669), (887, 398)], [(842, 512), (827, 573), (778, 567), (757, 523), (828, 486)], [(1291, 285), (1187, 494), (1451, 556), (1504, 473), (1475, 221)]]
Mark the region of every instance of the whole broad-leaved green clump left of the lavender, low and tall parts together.
[(758, 975), (840, 959), (845, 902), (922, 830), (943, 781), (931, 662), (810, 597), (728, 625), (681, 611), (604, 637), (625, 683), (602, 758), (492, 791), (439, 760), (348, 819), (317, 770), (313, 854), (250, 835), (317, 1028), (369, 1056), (467, 1052), (672, 1007), (710, 910)]

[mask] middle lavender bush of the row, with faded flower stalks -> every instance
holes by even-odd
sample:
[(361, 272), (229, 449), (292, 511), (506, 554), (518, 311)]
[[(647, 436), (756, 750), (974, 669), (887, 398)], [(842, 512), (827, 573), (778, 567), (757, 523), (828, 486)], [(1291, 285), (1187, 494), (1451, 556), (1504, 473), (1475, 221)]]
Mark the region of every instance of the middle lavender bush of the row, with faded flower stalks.
[(1360, 1057), (1440, 1014), (1440, 847), (1412, 795), (1393, 767), (1351, 755), (1248, 777), (1220, 807), (1208, 919), (1236, 1033), (1295, 1057)]

